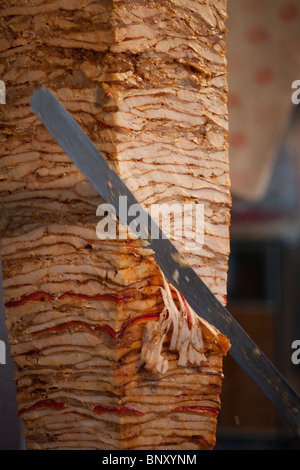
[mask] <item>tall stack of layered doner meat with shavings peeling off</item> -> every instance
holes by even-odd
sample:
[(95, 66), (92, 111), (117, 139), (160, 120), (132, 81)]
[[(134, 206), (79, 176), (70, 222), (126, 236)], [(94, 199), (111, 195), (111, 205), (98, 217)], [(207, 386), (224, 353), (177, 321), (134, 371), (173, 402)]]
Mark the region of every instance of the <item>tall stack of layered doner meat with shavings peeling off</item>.
[[(53, 91), (147, 208), (204, 205), (174, 243), (222, 303), (229, 253), (223, 0), (4, 0), (0, 231), (28, 448), (210, 449), (229, 344), (33, 114)], [(173, 220), (173, 225), (176, 220)]]

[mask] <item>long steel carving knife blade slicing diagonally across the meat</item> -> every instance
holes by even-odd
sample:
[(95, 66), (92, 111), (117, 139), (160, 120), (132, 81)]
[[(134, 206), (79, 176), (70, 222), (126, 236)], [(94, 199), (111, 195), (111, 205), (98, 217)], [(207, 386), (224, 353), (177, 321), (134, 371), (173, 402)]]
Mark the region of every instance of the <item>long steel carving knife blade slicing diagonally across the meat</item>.
[[(39, 89), (31, 97), (31, 106), (65, 153), (77, 165), (108, 204), (111, 204), (124, 225), (127, 214), (119, 208), (119, 198), (127, 197), (128, 207), (136, 204), (138, 224), (133, 220), (130, 229), (149, 241), (155, 259), (166, 278), (186, 298), (200, 317), (227, 336), (230, 354), (275, 405), (297, 436), (300, 437), (300, 397), (284, 377), (256, 346), (237, 321), (217, 300), (192, 267), (182, 259), (171, 241), (150, 217), (145, 208), (105, 160), (77, 122), (54, 95)], [(141, 222), (142, 221), (142, 222)], [(152, 236), (155, 234), (155, 236)]]

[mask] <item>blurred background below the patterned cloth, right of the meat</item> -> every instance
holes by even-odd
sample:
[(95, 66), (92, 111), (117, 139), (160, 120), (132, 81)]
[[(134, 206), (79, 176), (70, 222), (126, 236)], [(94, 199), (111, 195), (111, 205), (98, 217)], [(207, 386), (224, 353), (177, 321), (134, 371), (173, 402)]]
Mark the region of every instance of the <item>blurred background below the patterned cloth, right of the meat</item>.
[[(300, 339), (299, 106), (291, 113), (264, 198), (233, 198), (228, 310), (300, 393), (300, 365), (291, 359)], [(216, 449), (300, 450), (300, 439), (230, 356), (224, 375)]]

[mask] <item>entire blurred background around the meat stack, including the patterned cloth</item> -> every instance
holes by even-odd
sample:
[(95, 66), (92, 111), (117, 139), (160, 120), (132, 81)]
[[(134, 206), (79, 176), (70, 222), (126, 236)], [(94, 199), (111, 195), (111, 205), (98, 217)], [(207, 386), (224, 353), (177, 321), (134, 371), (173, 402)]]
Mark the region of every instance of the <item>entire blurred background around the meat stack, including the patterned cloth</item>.
[[(300, 0), (228, 0), (232, 180), (228, 309), (300, 393)], [(1, 296), (1, 293), (0, 293)], [(0, 302), (0, 340), (6, 340)], [(14, 366), (0, 364), (0, 449), (23, 449)], [(218, 449), (300, 449), (270, 402), (228, 356)]]

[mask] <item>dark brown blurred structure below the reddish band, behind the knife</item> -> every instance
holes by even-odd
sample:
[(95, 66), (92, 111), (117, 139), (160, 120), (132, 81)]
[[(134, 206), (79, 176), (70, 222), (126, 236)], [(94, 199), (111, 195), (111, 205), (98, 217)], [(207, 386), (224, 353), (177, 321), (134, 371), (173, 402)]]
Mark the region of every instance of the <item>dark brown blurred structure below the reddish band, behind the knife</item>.
[[(299, 332), (300, 247), (280, 241), (232, 241), (228, 309), (299, 393), (291, 360)], [(216, 449), (300, 450), (300, 440), (235, 361), (224, 360)]]

